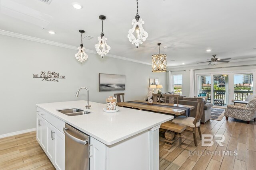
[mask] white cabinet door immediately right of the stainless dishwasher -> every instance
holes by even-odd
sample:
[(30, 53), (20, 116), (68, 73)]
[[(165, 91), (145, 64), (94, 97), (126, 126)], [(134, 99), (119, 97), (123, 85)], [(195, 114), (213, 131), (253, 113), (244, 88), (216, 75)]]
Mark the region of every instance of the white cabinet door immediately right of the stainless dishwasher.
[(90, 137), (90, 170), (106, 170), (106, 145)]

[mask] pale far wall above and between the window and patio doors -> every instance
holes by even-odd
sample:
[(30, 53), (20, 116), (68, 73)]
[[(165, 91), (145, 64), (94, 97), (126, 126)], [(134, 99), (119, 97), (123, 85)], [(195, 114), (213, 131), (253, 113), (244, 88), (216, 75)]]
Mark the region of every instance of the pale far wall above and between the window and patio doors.
[[(182, 74), (182, 95), (189, 96), (189, 88), (190, 88), (190, 69), (201, 69), (201, 68), (212, 68), (212, 69), (203, 69), (203, 70), (195, 70), (196, 73), (214, 73), (214, 72), (228, 72), (228, 71), (239, 71), (239, 70), (255, 70), (256, 66), (242, 66), (242, 65), (252, 65), (256, 64), (256, 60), (252, 59), (250, 61), (241, 61), (241, 62), (233, 62), (233, 63), (225, 63), (218, 64), (216, 66), (210, 65), (200, 65), (200, 66), (184, 66), (184, 67), (176, 67), (176, 68), (167, 68), (167, 71), (172, 71), (172, 75)], [(232, 68), (218, 68), (216, 67), (225, 67), (225, 66), (242, 66), (242, 67), (232, 67)], [(186, 71), (175, 71), (175, 70), (186, 70)], [(196, 83), (196, 80), (195, 80)]]

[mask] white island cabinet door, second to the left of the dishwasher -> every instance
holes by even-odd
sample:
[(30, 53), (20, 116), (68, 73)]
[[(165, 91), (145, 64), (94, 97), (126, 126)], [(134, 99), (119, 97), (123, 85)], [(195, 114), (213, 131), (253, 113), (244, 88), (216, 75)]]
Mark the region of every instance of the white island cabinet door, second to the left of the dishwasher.
[(46, 154), (51, 162), (54, 161), (54, 138), (52, 138), (52, 134), (54, 132), (54, 127), (46, 122)]

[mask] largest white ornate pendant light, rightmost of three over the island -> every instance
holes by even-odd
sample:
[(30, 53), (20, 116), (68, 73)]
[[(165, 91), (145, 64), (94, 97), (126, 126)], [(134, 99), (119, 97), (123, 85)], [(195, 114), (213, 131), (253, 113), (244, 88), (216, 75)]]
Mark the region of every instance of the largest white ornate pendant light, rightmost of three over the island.
[[(142, 24), (144, 24), (144, 21), (142, 18), (140, 18), (138, 14), (138, 0), (137, 0), (137, 14), (135, 16), (135, 19), (132, 20), (132, 29), (129, 29), (128, 31), (128, 39), (132, 44), (135, 44), (135, 47), (138, 48), (140, 44), (142, 44), (144, 41), (146, 41), (146, 38), (148, 37), (148, 33), (143, 29)], [(136, 33), (136, 37), (133, 35), (133, 33)]]

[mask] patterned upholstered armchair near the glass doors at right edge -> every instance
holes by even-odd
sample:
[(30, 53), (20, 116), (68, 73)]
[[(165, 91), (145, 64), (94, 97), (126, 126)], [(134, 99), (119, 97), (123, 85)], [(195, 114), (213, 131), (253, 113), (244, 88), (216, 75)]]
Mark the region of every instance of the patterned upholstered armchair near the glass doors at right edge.
[(235, 119), (247, 121), (248, 124), (252, 119), (256, 121), (256, 98), (250, 100), (247, 105), (228, 105), (225, 109), (224, 116), (226, 116), (227, 120), (228, 117), (233, 117)]

